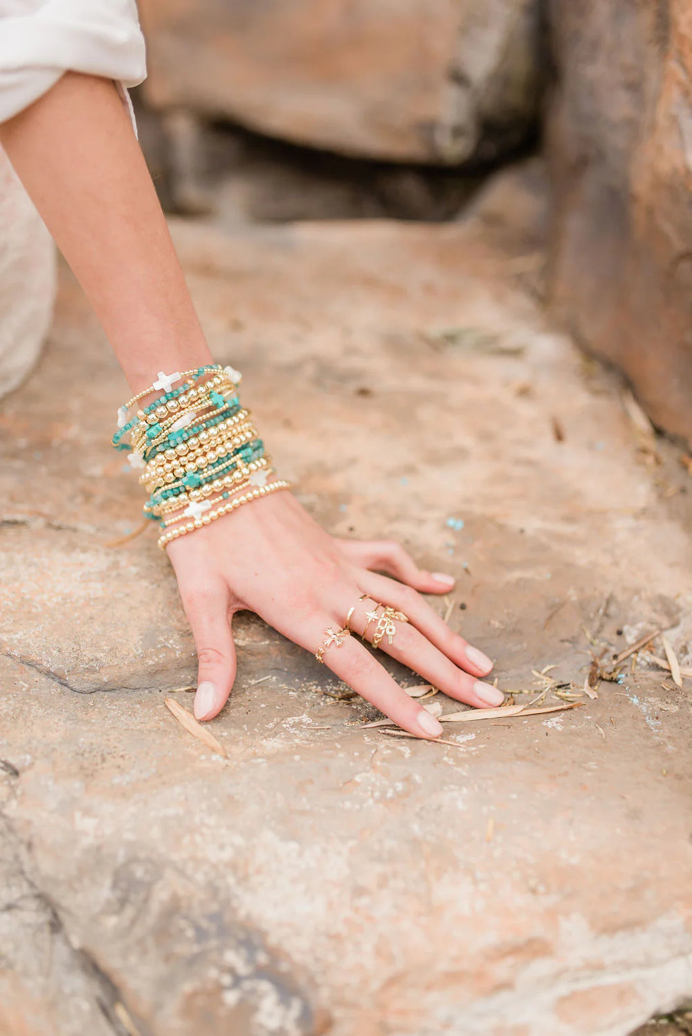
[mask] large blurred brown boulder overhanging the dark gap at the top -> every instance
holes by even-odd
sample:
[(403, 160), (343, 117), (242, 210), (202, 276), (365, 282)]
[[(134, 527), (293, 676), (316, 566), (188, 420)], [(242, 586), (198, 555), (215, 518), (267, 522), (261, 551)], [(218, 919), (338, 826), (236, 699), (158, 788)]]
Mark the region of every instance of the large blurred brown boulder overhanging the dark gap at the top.
[(396, 161), (492, 159), (537, 116), (536, 0), (142, 0), (160, 108)]

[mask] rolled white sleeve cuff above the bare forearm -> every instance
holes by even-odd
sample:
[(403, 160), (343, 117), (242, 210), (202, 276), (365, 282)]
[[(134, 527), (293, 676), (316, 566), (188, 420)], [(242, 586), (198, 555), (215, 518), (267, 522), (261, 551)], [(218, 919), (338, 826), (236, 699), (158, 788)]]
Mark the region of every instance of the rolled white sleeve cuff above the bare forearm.
[(132, 117), (126, 88), (146, 78), (135, 0), (0, 0), (0, 122), (68, 70), (114, 80)]

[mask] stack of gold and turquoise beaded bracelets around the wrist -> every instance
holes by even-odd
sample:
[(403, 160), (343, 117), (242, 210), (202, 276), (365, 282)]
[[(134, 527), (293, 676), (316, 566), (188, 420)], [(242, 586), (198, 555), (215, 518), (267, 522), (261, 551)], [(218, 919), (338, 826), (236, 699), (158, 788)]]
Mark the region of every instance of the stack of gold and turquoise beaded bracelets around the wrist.
[[(144, 514), (164, 529), (162, 549), (289, 485), (270, 480), (271, 461), (250, 411), (238, 401), (240, 378), (232, 367), (219, 364), (162, 371), (153, 385), (118, 409), (112, 443), (129, 450), (131, 466), (141, 469), (140, 483), (149, 493)], [(176, 381), (182, 384), (174, 388)], [(131, 408), (155, 391), (163, 395), (129, 418)]]

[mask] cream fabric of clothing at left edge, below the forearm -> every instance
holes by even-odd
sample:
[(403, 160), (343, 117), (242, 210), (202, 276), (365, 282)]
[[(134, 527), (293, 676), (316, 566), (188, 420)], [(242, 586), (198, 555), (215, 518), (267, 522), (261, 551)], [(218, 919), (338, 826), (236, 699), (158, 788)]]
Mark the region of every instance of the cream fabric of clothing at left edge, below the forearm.
[(55, 248), (0, 148), (0, 396), (36, 362), (55, 300)]

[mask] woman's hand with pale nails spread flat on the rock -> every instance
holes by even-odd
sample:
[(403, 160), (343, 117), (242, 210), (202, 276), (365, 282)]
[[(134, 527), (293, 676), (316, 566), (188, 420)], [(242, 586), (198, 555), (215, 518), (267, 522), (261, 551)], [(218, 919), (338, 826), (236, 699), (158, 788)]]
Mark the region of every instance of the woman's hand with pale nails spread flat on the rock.
[[(391, 605), (409, 622), (397, 622), (392, 644), (385, 636), (380, 650), (459, 701), (480, 708), (502, 701), (497, 688), (478, 679), (490, 672), (490, 659), (454, 633), (420, 596), (449, 592), (452, 577), (422, 571), (398, 543), (328, 536), (286, 490), (254, 500), (167, 549), (197, 648), (197, 719), (217, 716), (231, 692), (236, 669), (231, 621), (243, 609), (314, 654), (327, 627), (343, 627), (352, 606), (349, 626), (358, 634), (373, 602)], [(359, 601), (363, 594), (368, 598)], [(370, 636), (373, 631), (371, 624)], [(438, 721), (356, 636), (327, 648), (324, 663), (405, 730), (421, 738), (441, 733)]]

